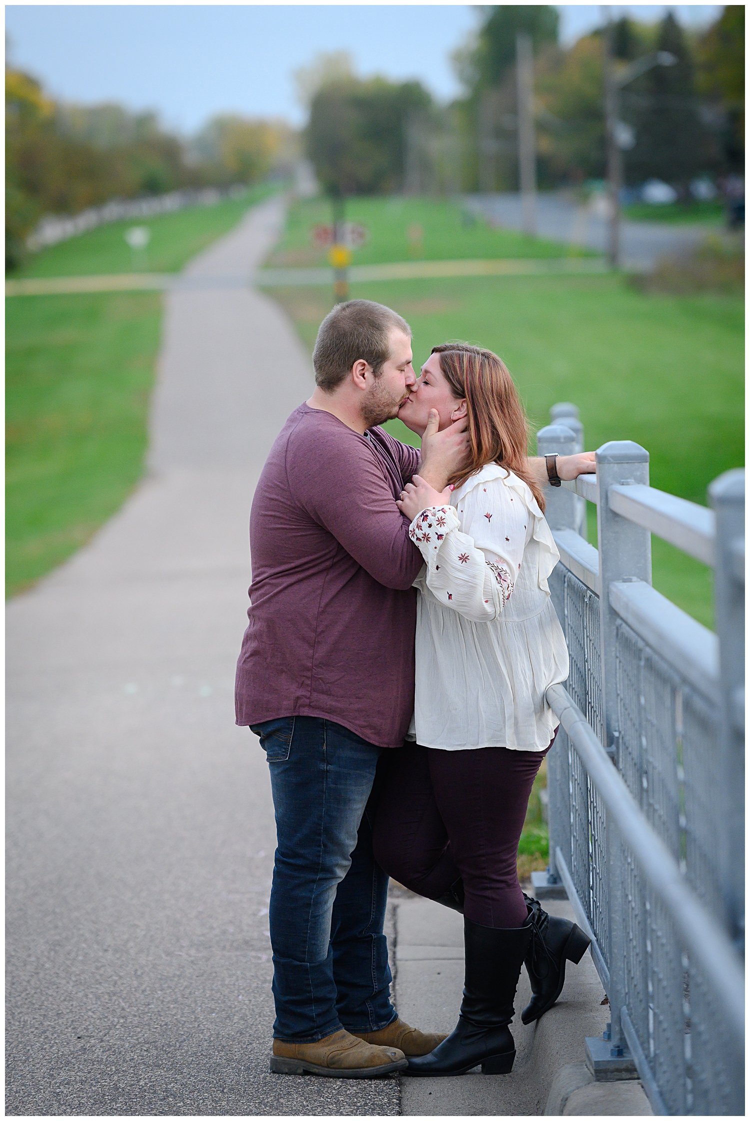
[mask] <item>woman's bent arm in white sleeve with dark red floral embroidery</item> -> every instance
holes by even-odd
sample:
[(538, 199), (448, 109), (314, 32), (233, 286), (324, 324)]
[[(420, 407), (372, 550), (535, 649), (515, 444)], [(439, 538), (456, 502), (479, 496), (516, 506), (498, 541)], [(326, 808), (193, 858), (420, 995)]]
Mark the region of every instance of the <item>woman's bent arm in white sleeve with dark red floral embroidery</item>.
[(420, 509), (409, 530), (426, 562), (424, 580), (440, 603), (472, 622), (490, 622), (503, 614), (513, 593), (528, 510), (501, 480), (475, 488), (462, 502), (471, 534), (459, 528), (458, 511), (444, 501), (444, 492), (437, 494), (419, 476), (399, 504), (407, 507), (403, 512), (409, 516), (422, 500), (441, 498), (442, 502)]

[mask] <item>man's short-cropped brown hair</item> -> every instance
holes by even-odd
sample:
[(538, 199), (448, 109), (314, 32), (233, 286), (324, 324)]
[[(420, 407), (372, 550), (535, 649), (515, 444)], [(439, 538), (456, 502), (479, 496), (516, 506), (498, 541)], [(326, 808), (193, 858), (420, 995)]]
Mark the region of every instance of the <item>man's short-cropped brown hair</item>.
[(379, 377), (391, 354), (390, 336), (394, 330), (412, 336), (406, 321), (384, 304), (372, 299), (337, 304), (320, 324), (316, 339), (312, 352), (316, 385), (330, 393), (359, 359)]

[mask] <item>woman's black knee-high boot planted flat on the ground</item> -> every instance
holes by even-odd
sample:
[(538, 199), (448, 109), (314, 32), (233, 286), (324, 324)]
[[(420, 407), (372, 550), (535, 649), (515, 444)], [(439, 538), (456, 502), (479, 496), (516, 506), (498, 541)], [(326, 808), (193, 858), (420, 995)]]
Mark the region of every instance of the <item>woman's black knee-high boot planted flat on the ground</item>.
[(411, 1075), (508, 1074), (516, 1048), (508, 1025), (518, 975), (532, 936), (531, 921), (497, 930), (463, 918), (466, 972), (458, 1025), (429, 1055), (410, 1058)]

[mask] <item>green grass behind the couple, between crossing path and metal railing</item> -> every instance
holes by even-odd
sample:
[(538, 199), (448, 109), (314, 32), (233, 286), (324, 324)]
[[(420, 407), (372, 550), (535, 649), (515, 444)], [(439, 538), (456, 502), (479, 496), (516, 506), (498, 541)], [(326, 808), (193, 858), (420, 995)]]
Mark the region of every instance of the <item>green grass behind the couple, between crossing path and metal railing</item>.
[[(325, 288), (272, 294), (311, 350), (332, 296)], [(643, 444), (660, 490), (705, 503), (711, 480), (743, 463), (741, 297), (646, 295), (618, 276), (373, 282), (353, 285), (351, 296), (405, 316), (418, 368), (448, 339), (495, 350), (536, 428), (555, 401), (574, 401), (587, 446)], [(400, 421), (391, 427), (418, 442)], [(656, 538), (654, 584), (711, 624), (710, 574)]]

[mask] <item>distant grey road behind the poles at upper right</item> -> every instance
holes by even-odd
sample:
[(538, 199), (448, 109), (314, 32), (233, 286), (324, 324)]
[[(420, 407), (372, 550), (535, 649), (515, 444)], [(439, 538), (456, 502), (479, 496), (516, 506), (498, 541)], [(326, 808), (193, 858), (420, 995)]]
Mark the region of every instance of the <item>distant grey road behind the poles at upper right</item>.
[[(471, 195), (468, 206), (499, 225), (523, 229), (518, 194)], [(563, 194), (544, 193), (536, 198), (537, 233), (542, 238), (585, 245), (607, 252), (608, 223), (596, 209), (579, 206)], [(671, 225), (667, 222), (624, 221), (620, 228), (622, 267), (648, 271), (659, 257), (684, 252), (702, 241), (710, 228)]]

